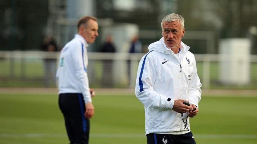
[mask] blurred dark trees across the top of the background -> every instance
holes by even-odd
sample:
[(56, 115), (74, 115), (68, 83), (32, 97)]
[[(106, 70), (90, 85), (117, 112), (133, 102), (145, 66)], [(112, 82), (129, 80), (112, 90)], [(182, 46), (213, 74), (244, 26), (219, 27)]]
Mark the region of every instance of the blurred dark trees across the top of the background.
[[(252, 54), (257, 54), (256, 35), (249, 33), (250, 27), (257, 26), (256, 0), (95, 0), (94, 3), (99, 19), (111, 18), (114, 23), (137, 24), (140, 30), (156, 30), (155, 38), (140, 38), (146, 46), (162, 37), (162, 18), (178, 13), (185, 18), (186, 34), (187, 31), (214, 34), (213, 53), (217, 53), (221, 38), (249, 37), (255, 42)], [(39, 49), (49, 18), (48, 4), (48, 0), (1, 0), (0, 50)], [(206, 40), (184, 41), (191, 52), (207, 53)]]

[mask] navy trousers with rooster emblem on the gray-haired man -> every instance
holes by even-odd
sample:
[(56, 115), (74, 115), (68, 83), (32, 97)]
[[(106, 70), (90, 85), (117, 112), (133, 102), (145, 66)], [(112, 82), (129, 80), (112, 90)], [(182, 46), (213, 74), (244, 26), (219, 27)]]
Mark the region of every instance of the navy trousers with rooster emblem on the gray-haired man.
[(195, 139), (192, 132), (182, 135), (168, 135), (149, 133), (146, 135), (147, 144), (195, 144)]

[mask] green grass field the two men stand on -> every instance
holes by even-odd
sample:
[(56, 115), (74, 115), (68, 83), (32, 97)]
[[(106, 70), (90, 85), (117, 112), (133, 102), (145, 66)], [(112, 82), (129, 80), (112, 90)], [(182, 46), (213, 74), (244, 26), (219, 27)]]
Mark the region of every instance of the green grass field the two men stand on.
[[(68, 143), (57, 95), (0, 94), (0, 143)], [(97, 95), (91, 144), (141, 144), (144, 108), (133, 95)], [(190, 119), (198, 144), (256, 143), (257, 97), (203, 96)]]

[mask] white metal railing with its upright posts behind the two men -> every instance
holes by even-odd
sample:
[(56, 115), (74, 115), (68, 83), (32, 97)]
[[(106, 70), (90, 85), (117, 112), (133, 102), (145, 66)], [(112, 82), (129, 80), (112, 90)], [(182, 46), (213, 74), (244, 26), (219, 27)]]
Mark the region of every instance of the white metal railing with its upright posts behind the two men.
[[(36, 59), (58, 59), (60, 52), (42, 52), (42, 51), (0, 51), (0, 58), (17, 59), (17, 58), (36, 58)], [(139, 60), (145, 54), (130, 54), (130, 53), (95, 53), (88, 52), (89, 60), (131, 60), (131, 67), (138, 65)], [(234, 61), (231, 56), (236, 55), (220, 55), (220, 54), (195, 54), (196, 61), (203, 62), (203, 77), (201, 82), (203, 87), (210, 87), (210, 63), (221, 61)], [(257, 62), (257, 55), (250, 55), (244, 61)], [(1, 66), (0, 66), (1, 68)], [(132, 70), (132, 68), (131, 68)], [(136, 72), (131, 71), (131, 81), (135, 80)], [(133, 86), (132, 86), (133, 87)]]

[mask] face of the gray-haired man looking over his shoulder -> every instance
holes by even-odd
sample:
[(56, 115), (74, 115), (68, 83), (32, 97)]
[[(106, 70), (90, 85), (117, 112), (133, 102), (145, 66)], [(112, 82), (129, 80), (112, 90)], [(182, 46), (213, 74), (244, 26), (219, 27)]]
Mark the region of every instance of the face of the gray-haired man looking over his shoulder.
[(185, 34), (185, 28), (181, 30), (181, 24), (177, 21), (169, 23), (164, 22), (162, 26), (162, 36), (166, 46), (171, 49), (178, 49), (180, 47), (181, 39)]

